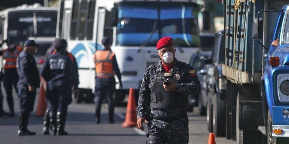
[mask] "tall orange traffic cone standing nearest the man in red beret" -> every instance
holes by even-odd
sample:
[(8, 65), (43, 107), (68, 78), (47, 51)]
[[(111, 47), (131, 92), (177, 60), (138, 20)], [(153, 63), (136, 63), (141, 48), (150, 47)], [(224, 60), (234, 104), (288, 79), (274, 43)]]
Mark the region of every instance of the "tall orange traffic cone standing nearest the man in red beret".
[(134, 98), (134, 89), (129, 89), (127, 101), (127, 112), (125, 114), (125, 122), (121, 125), (123, 128), (136, 126), (136, 101)]

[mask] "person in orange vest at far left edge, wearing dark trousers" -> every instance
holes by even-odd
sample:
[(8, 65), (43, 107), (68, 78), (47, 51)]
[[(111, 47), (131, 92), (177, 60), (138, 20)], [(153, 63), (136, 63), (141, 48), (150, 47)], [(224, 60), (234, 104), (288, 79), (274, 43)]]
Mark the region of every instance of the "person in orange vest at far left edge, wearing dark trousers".
[(0, 55), (2, 55), (3, 59), (6, 60), (4, 65), (5, 73), (3, 77), (3, 84), (6, 91), (7, 103), (9, 107), (8, 115), (10, 117), (14, 117), (14, 101), (12, 97), (12, 85), (14, 86), (15, 91), (18, 94), (17, 83), (19, 77), (16, 70), (16, 61), (18, 55), (22, 52), (23, 48), (20, 46), (16, 46), (12, 38), (7, 38), (5, 42), (8, 48), (0, 51)]

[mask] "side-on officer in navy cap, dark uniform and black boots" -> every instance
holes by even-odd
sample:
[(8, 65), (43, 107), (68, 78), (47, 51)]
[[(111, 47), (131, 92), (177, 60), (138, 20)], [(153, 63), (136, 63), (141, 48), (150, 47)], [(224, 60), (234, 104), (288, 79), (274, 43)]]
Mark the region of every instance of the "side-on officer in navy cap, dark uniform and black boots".
[(27, 40), (24, 49), (17, 57), (17, 73), (19, 75), (18, 99), (19, 99), (19, 130), (18, 136), (35, 135), (27, 129), (30, 113), (33, 111), (36, 97), (36, 88), (39, 88), (40, 79), (36, 61), (33, 55), (36, 53), (34, 40)]

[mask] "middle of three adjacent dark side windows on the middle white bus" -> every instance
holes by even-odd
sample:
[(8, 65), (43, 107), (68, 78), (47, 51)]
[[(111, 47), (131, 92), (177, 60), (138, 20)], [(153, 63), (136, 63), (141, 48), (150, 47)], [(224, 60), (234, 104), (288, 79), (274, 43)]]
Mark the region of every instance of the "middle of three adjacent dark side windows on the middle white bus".
[(80, 18), (78, 19), (79, 22), (79, 30), (78, 30), (78, 39), (83, 40), (85, 35), (85, 27), (86, 27), (86, 20), (87, 20), (87, 1), (81, 1), (80, 4)]

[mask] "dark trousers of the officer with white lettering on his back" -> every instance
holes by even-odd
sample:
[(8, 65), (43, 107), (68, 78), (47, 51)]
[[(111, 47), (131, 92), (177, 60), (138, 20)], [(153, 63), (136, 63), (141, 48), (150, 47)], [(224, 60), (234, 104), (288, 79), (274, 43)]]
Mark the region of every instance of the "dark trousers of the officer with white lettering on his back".
[(49, 101), (49, 112), (67, 113), (67, 107), (71, 103), (71, 88), (69, 86), (47, 86), (47, 100)]

